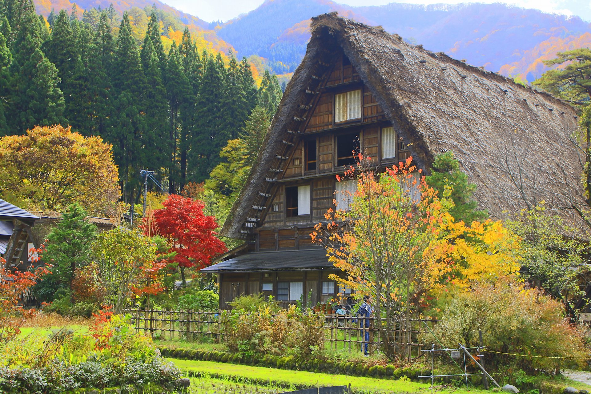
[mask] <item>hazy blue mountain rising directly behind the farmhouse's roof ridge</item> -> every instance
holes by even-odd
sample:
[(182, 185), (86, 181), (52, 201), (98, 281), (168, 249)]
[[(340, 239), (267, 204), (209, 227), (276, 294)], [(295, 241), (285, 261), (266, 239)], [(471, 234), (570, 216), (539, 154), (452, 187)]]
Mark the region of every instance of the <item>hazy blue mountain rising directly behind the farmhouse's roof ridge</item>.
[[(267, 0), (216, 32), (239, 53), (268, 58), (268, 66), (277, 73), (288, 72), (297, 67), (306, 51), (310, 17), (331, 11), (370, 25), (382, 25), (386, 31), (423, 44), (428, 50), (443, 51), (475, 66), (504, 73), (522, 73), (527, 67), (507, 65), (527, 57), (528, 51), (545, 41), (567, 37), (576, 41), (574, 37), (591, 32), (590, 24), (579, 17), (500, 3), (352, 7), (327, 0)], [(542, 69), (530, 71), (530, 77), (538, 77)]]

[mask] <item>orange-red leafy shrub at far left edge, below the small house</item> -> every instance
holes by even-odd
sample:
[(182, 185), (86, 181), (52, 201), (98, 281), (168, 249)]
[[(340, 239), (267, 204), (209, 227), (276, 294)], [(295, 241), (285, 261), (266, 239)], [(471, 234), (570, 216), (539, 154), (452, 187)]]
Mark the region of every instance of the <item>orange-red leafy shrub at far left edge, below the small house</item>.
[(35, 314), (34, 309), (25, 310), (19, 303), (27, 289), (51, 274), (48, 268), (51, 265), (22, 272), (11, 271), (6, 268), (6, 260), (0, 257), (0, 343), (17, 336), (24, 321)]

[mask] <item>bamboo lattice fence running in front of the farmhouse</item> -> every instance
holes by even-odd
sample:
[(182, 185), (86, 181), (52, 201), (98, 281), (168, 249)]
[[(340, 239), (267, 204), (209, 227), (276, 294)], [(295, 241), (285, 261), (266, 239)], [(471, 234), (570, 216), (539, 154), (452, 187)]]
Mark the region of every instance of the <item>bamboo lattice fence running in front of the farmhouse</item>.
[[(223, 327), (220, 321), (221, 311), (167, 311), (152, 309), (128, 309), (125, 313), (131, 314), (132, 324), (137, 333), (160, 340), (186, 340), (196, 341), (200, 338), (223, 340)], [(369, 328), (365, 327), (365, 321), (369, 320)], [(329, 342), (330, 351), (348, 350), (360, 351), (366, 342), (369, 343), (369, 351), (379, 350), (382, 340), (378, 328), (377, 319), (374, 317), (363, 318), (354, 314), (326, 314), (324, 315), (325, 341)], [(413, 349), (422, 349), (418, 343), (417, 334), (419, 328), (427, 325), (433, 328), (437, 320), (414, 319), (413, 329), (410, 333), (399, 327), (393, 331), (397, 341), (402, 342), (407, 338), (407, 343)], [(423, 325), (423, 327), (421, 327)], [(365, 331), (369, 332), (369, 341), (365, 339)]]

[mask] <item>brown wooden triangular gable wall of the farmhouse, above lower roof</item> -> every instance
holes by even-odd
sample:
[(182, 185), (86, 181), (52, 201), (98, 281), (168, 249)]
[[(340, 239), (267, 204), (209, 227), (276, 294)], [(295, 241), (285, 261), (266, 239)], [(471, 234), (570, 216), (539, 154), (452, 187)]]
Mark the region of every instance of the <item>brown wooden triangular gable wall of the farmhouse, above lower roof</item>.
[[(335, 123), (335, 95), (361, 90), (359, 105), (361, 117)], [(359, 97), (359, 96), (358, 96)], [(288, 149), (282, 172), (274, 175), (272, 197), (261, 214), (256, 230), (256, 249), (299, 249), (313, 246), (310, 232), (315, 223), (324, 220), (326, 211), (333, 207), (335, 198), (335, 174), (342, 174), (345, 167), (337, 167), (336, 139), (342, 133), (359, 133), (359, 145), (364, 155), (380, 160), (381, 130), (391, 127), (377, 100), (364, 86), (348, 59), (340, 54), (335, 57), (332, 70), (318, 88), (316, 99), (307, 112), (309, 115), (296, 131), (295, 145)], [(316, 143), (316, 168), (306, 171), (306, 143)], [(403, 152), (396, 159), (388, 159), (389, 165), (404, 159)], [(381, 164), (384, 164), (383, 162)], [(288, 217), (285, 188), (310, 185), (310, 214)]]

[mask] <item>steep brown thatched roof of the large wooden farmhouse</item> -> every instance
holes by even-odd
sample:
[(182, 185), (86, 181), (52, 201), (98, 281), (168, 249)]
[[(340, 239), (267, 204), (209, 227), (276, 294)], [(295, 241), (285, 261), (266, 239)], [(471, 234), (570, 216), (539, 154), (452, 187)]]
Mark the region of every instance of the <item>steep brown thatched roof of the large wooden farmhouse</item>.
[[(428, 168), (453, 151), (478, 189), (475, 198), (502, 217), (545, 200), (557, 209), (580, 196), (580, 159), (568, 136), (577, 128), (567, 103), (472, 67), (443, 53), (405, 43), (381, 27), (336, 13), (313, 18), (306, 56), (285, 90), (261, 151), (221, 235), (238, 237), (269, 165), (304, 102), (319, 61), (339, 45), (371, 90), (413, 158)], [(321, 63), (322, 64), (322, 63)], [(521, 178), (519, 178), (521, 169)], [(509, 174), (517, 176), (511, 181)], [(558, 210), (570, 223), (573, 210)]]

